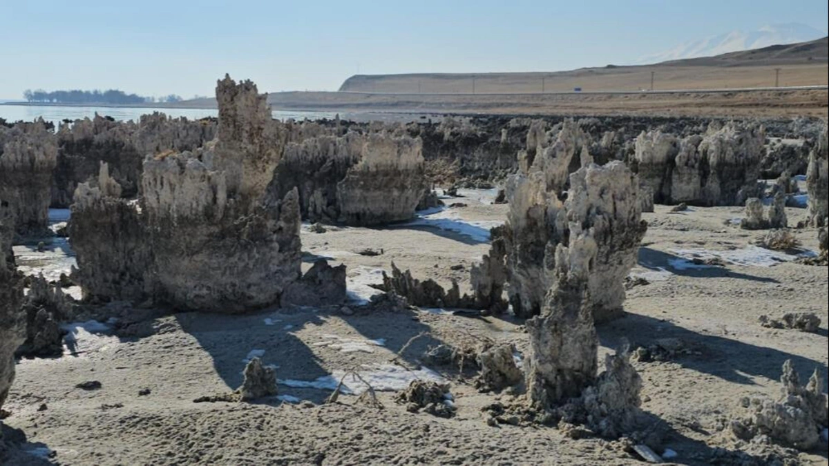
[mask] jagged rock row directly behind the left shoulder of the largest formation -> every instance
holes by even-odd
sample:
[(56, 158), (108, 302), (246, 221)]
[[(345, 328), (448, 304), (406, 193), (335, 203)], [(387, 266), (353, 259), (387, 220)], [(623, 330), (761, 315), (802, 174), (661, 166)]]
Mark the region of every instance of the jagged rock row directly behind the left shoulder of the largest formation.
[(101, 162), (109, 165), (111, 176), (124, 190), (123, 196), (135, 197), (147, 155), (191, 151), (215, 136), (216, 119), (170, 118), (159, 112), (144, 114), (138, 122), (95, 114), (92, 119), (61, 124), (51, 206), (70, 206), (75, 189), (95, 177)]

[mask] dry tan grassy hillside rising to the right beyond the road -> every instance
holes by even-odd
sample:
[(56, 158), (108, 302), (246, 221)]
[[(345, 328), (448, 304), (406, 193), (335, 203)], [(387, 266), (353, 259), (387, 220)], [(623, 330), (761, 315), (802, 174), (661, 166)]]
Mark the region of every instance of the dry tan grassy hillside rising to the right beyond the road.
[(377, 93), (526, 93), (697, 90), (775, 85), (827, 85), (827, 38), (721, 56), (648, 66), (612, 66), (532, 73), (355, 75), (340, 90)]

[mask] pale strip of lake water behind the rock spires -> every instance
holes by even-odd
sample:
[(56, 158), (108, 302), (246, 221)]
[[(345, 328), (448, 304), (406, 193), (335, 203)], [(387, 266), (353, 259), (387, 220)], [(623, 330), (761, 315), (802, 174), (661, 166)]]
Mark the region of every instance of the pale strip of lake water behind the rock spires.
[[(172, 117), (187, 117), (188, 119), (200, 119), (205, 117), (215, 117), (219, 114), (217, 109), (156, 109), (152, 107), (61, 107), (56, 105), (0, 105), (0, 118), (7, 121), (32, 121), (38, 117), (43, 117), (46, 121), (51, 121), (57, 126), (59, 122), (64, 119), (82, 119), (84, 117), (92, 118), (95, 112), (99, 115), (111, 116), (118, 120), (133, 119), (138, 121), (138, 118), (143, 114), (152, 114), (153, 112), (163, 112)], [(275, 119), (332, 119), (336, 115), (335, 112), (313, 112), (303, 110), (274, 110), (272, 112)]]

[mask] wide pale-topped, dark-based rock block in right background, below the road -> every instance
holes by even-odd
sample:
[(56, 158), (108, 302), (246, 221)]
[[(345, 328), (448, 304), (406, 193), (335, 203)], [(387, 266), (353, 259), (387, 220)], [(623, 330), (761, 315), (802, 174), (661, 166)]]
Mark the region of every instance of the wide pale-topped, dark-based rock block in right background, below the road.
[(686, 138), (642, 132), (633, 161), (658, 204), (741, 206), (759, 194), (764, 141), (762, 127), (741, 129), (734, 123)]

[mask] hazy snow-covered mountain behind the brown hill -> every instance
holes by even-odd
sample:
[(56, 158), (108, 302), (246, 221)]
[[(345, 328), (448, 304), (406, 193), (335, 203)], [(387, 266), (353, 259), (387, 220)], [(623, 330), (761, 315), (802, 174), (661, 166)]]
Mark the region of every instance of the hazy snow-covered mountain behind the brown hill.
[(733, 51), (746, 51), (767, 46), (786, 45), (796, 42), (814, 41), (827, 33), (805, 24), (773, 24), (757, 31), (732, 31), (719, 36), (686, 42), (669, 51), (642, 56), (638, 65), (661, 61), (683, 60), (700, 56), (716, 56)]

